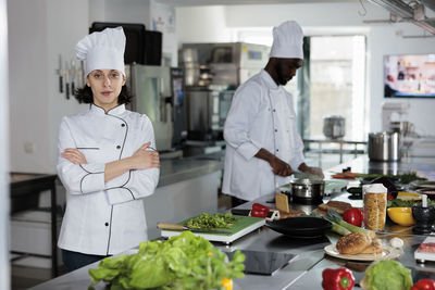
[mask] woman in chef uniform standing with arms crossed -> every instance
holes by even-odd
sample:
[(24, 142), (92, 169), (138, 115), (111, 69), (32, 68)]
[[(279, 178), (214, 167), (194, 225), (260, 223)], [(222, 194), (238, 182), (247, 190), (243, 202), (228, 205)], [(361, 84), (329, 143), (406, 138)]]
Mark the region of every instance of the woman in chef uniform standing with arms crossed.
[(121, 27), (76, 46), (86, 61), (76, 98), (90, 105), (65, 116), (59, 133), (57, 169), (67, 197), (58, 245), (69, 270), (147, 240), (141, 199), (154, 192), (160, 162), (150, 119), (125, 109), (124, 49)]

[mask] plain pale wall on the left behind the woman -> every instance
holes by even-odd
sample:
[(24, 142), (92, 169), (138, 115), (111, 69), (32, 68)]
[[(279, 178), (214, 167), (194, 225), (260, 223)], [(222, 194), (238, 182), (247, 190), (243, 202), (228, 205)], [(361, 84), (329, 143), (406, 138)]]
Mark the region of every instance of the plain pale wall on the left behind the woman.
[[(87, 0), (8, 1), (12, 172), (54, 173), (63, 115), (83, 110), (59, 92), (59, 54), (88, 30)], [(25, 152), (25, 146), (30, 148)]]

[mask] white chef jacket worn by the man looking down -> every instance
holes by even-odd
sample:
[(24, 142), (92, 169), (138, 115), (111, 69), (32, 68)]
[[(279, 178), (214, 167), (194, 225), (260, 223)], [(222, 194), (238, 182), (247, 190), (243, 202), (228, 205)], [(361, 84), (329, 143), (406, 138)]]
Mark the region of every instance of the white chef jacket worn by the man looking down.
[(303, 143), (297, 133), (293, 97), (262, 70), (235, 92), (224, 127), (226, 141), (222, 191), (244, 200), (275, 192), (289, 177), (273, 174), (254, 155), (261, 148), (297, 171)]

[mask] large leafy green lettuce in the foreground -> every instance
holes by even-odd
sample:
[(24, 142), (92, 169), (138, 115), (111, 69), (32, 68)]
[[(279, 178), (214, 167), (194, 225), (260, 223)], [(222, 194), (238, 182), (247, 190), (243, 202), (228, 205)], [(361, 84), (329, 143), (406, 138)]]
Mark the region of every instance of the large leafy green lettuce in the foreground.
[(227, 255), (190, 231), (166, 241), (141, 242), (139, 252), (105, 257), (89, 269), (92, 283), (111, 283), (111, 289), (224, 289), (223, 279), (244, 277), (245, 255)]

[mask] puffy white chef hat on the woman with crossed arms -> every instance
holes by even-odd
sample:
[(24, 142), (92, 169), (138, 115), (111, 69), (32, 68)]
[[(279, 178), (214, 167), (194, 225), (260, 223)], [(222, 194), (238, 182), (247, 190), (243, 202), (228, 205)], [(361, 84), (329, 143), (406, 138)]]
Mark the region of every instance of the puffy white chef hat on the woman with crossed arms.
[(125, 76), (123, 28), (105, 28), (85, 36), (75, 46), (77, 59), (86, 60), (86, 75), (95, 70), (117, 70)]

